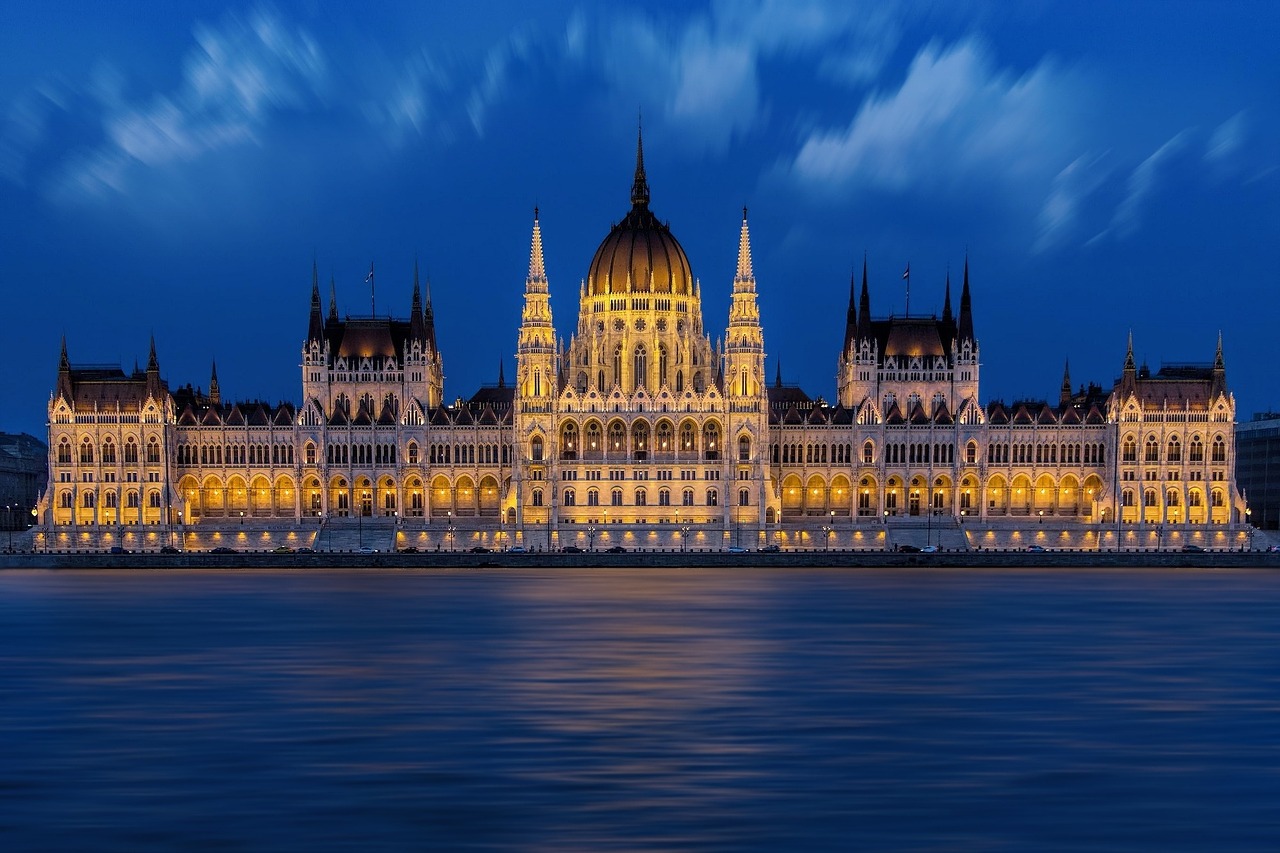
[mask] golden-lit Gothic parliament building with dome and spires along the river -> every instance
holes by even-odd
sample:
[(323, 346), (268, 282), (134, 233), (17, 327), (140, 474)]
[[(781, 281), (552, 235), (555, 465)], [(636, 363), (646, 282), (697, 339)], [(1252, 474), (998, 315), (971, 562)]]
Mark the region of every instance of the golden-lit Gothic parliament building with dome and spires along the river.
[[(850, 282), (833, 402), (765, 377), (746, 211), (727, 324), (650, 210), (631, 207), (563, 343), (534, 213), (516, 370), (447, 402), (430, 292), (408, 316), (328, 311), (312, 268), (298, 403), (77, 365), (49, 402), (46, 549), (1239, 547), (1235, 401), (1211, 364), (983, 402), (969, 264), (959, 307), (873, 313)], [(768, 283), (765, 283), (765, 287)], [(835, 342), (833, 342), (835, 343)], [(835, 346), (833, 346), (835, 350)], [(1119, 350), (1119, 347), (1117, 347)], [(833, 355), (836, 355), (833, 352)]]

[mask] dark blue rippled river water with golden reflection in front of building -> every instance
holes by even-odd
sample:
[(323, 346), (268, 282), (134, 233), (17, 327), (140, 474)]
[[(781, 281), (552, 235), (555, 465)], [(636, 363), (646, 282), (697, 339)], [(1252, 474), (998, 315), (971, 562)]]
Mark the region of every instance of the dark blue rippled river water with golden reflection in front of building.
[(0, 849), (1280, 848), (1280, 574), (0, 573)]

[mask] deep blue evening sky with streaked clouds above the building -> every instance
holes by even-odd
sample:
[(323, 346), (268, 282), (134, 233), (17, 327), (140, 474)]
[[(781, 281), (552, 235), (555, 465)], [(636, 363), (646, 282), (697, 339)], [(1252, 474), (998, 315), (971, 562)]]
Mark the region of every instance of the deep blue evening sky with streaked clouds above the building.
[(986, 400), (1221, 330), (1240, 418), (1280, 407), (1277, 4), (371, 5), (0, 4), (0, 429), (45, 434), (63, 334), (297, 400), (312, 259), (406, 315), (416, 257), (447, 397), (509, 378), (532, 209), (567, 338), (637, 113), (713, 337), (750, 207), (771, 379), (835, 396), (864, 252), (887, 315), (968, 251)]

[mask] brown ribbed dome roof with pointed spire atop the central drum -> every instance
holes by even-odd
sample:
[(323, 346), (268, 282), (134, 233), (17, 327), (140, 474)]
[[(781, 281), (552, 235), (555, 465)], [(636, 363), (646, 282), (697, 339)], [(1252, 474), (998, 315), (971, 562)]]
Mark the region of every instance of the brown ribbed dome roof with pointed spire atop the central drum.
[(694, 292), (689, 256), (671, 229), (649, 210), (649, 182), (644, 174), (644, 149), (636, 143), (636, 177), (631, 184), (631, 213), (616, 224), (591, 259), (588, 293)]

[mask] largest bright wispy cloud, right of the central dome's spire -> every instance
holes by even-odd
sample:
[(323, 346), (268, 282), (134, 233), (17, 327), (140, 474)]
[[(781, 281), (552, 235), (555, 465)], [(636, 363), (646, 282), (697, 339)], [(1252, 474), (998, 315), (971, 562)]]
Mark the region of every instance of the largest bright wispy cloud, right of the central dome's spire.
[(931, 44), (896, 91), (868, 96), (844, 128), (810, 133), (788, 169), (808, 187), (835, 191), (982, 182), (1025, 193), (1030, 179), (1042, 199), (1073, 159), (1076, 99), (1050, 61), (1015, 76), (996, 69), (975, 38)]

